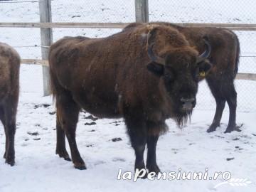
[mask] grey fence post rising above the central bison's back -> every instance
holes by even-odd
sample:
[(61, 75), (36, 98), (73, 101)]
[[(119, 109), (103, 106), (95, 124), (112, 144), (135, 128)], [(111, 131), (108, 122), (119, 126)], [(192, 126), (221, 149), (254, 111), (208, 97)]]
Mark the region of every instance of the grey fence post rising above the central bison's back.
[(135, 17), (136, 22), (149, 22), (149, 1), (135, 0)]

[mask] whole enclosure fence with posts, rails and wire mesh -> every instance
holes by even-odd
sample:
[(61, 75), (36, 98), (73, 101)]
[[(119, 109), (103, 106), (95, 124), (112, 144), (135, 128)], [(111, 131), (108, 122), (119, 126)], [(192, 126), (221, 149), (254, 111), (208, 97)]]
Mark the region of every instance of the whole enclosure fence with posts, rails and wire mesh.
[[(256, 90), (254, 4), (252, 0), (0, 0), (0, 41), (16, 48), (22, 63), (42, 65), (43, 94), (49, 95), (48, 48), (63, 36), (109, 36), (134, 21), (229, 28), (238, 34), (242, 52), (235, 81), (238, 110), (256, 110), (254, 92), (248, 91)], [(198, 106), (212, 109), (215, 101), (213, 97), (209, 101), (208, 87), (201, 84)]]

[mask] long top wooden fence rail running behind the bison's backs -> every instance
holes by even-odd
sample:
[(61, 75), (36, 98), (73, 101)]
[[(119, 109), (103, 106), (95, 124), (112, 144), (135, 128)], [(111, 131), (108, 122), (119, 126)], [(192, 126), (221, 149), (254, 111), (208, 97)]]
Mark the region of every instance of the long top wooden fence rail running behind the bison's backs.
[[(234, 31), (256, 31), (256, 24), (242, 23), (174, 23), (185, 27), (223, 27)], [(0, 22), (0, 27), (18, 28), (124, 28), (129, 23), (8, 23)]]

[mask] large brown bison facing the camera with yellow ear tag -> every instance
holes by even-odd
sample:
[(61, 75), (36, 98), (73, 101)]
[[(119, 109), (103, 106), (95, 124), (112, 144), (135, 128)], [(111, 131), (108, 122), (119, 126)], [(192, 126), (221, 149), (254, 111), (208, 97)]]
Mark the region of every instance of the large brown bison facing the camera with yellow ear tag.
[(57, 109), (56, 154), (86, 169), (75, 141), (80, 109), (106, 118), (124, 117), (135, 169), (159, 172), (156, 143), (165, 120), (181, 125), (196, 105), (199, 68), (210, 69), (210, 45), (199, 55), (170, 26), (145, 25), (107, 38), (62, 38), (50, 47), (50, 77)]

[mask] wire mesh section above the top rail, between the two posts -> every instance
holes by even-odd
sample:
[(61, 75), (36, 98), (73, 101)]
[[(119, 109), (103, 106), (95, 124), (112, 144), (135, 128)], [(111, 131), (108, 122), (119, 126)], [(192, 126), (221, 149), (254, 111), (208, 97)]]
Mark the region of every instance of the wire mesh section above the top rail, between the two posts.
[[(134, 1), (52, 1), (53, 22), (133, 22)], [(65, 14), (64, 14), (65, 13)]]

